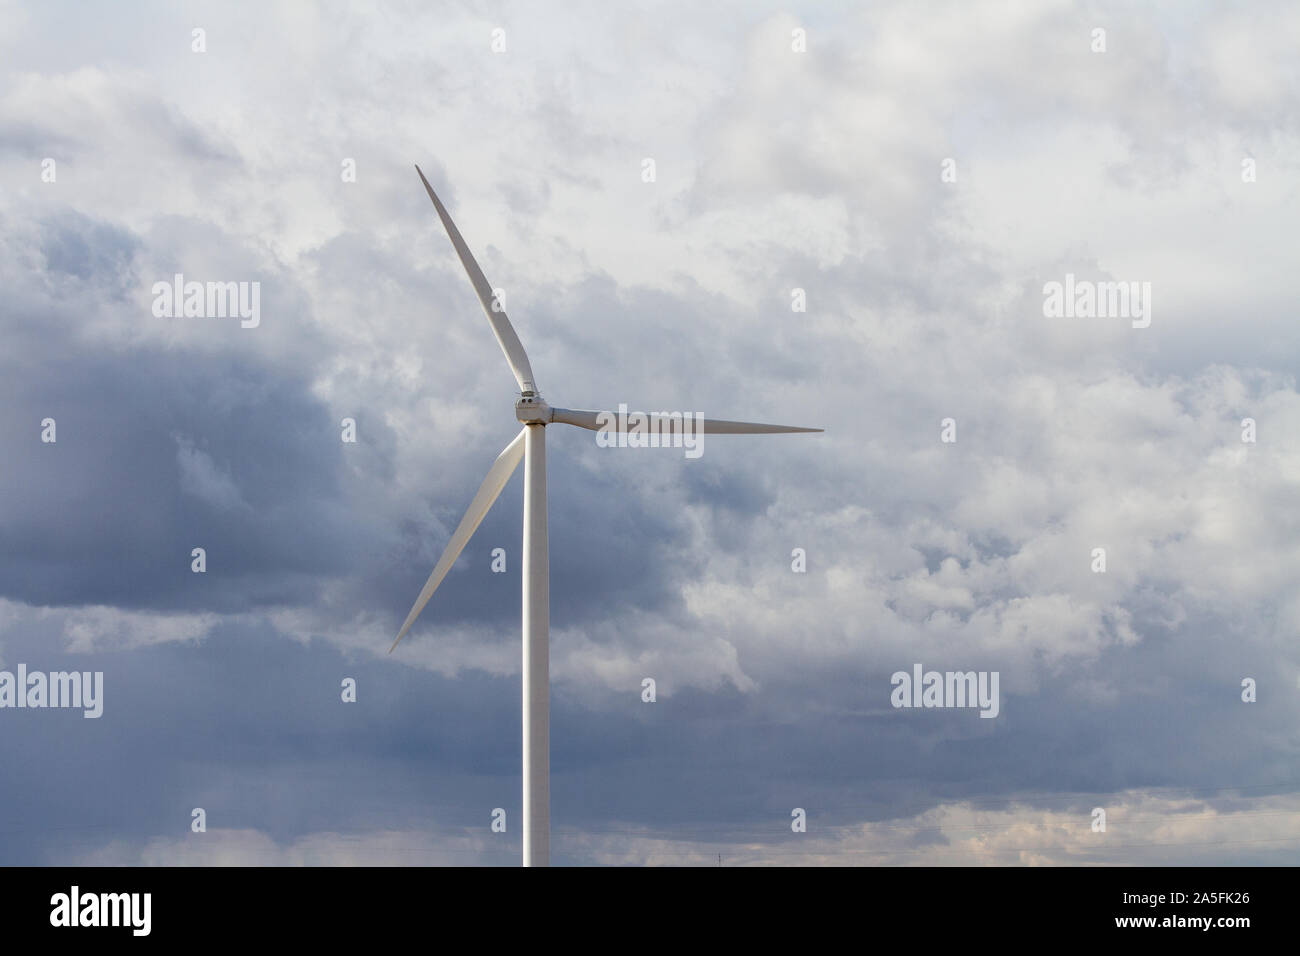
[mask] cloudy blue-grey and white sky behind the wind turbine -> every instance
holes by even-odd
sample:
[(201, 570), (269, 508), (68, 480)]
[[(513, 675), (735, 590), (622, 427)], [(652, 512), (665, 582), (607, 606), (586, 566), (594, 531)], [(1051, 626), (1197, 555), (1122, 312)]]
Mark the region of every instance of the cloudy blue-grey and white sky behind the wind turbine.
[(546, 7), (0, 0), (0, 667), (104, 674), (0, 862), (517, 862), (521, 472), (387, 654), (519, 429), (415, 163), (550, 402), (826, 428), (549, 429), (554, 862), (1300, 858), (1300, 9)]

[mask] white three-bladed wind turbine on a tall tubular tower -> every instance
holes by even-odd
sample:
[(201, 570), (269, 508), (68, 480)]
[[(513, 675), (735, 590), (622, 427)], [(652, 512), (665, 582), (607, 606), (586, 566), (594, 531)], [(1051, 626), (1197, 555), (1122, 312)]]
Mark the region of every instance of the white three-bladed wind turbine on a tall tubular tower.
[[(446, 207), (424, 178), (417, 165), (420, 182), (424, 183), (433, 208), (438, 211), (451, 245), (460, 256), (460, 264), (469, 273), (469, 281), (478, 293), (488, 321), (497, 336), (497, 342), (506, 352), (510, 371), (519, 382), (519, 401), (515, 402), (515, 418), (524, 428), (515, 440), (497, 457), (488, 477), (478, 486), (478, 493), (469, 502), (469, 510), (460, 519), (446, 550), (420, 589), (406, 623), (389, 653), (406, 637), (411, 624), (429, 604), (433, 592), (442, 584), (451, 566), (456, 563), (474, 531), (497, 501), (502, 488), (515, 473), (520, 459), (524, 462), (524, 866), (546, 866), (551, 853), (551, 740), (550, 740), (550, 561), (546, 545), (546, 425), (577, 425), (593, 432), (608, 429), (611, 420), (616, 429), (628, 431), (627, 416), (614, 416), (612, 412), (556, 408), (542, 401), (533, 378), (533, 368), (528, 364), (528, 354), (515, 334), (506, 311), (493, 298), (491, 285), (474, 261), (469, 246), (465, 245), (456, 224), (451, 221)], [(697, 419), (697, 433), (703, 434), (777, 434), (781, 432), (820, 432), (820, 428), (793, 428), (790, 425), (762, 425), (754, 421), (723, 421), (720, 419)]]

